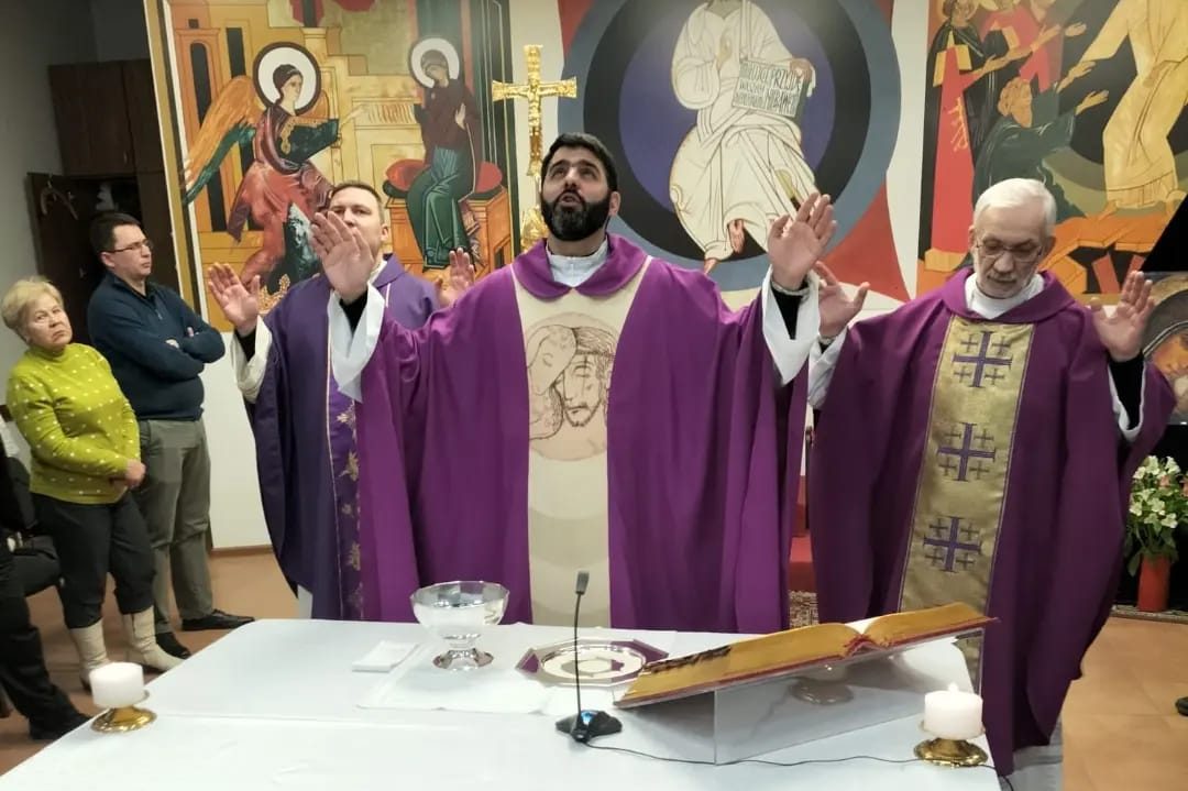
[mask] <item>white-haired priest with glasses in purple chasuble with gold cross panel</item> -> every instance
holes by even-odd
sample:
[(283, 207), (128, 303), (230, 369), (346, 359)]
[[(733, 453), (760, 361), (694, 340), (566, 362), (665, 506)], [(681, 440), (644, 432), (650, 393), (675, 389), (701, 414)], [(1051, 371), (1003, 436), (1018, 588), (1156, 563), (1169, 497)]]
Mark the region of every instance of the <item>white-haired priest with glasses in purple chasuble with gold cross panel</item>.
[(973, 270), (849, 329), (861, 298), (822, 272), (809, 384), (821, 620), (952, 601), (998, 619), (963, 651), (1001, 774), (1050, 740), (1041, 758), (1059, 772), (1057, 719), (1113, 601), (1130, 479), (1173, 407), (1140, 355), (1150, 284), (1131, 273), (1112, 312), (1079, 305), (1037, 273), (1054, 223), (1041, 182), (992, 185)]

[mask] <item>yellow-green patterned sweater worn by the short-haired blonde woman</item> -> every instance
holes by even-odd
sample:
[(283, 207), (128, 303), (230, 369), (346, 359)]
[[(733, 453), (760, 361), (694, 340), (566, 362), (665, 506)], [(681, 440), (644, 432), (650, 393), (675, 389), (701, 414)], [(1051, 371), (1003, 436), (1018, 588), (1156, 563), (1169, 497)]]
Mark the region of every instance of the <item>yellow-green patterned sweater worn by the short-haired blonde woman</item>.
[(8, 375), (7, 401), (32, 450), (31, 492), (77, 504), (124, 495), (140, 435), (99, 352), (81, 343), (56, 355), (30, 348)]

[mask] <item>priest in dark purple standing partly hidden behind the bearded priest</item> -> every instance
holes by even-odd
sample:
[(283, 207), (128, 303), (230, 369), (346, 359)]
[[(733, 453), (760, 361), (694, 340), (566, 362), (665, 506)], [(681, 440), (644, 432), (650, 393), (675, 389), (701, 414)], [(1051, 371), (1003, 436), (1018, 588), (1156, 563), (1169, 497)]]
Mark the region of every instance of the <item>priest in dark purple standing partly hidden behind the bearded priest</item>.
[[(371, 185), (339, 184), (328, 210), (365, 240), (377, 304), (393, 322), (421, 327), (440, 296), (450, 299), (449, 291), (436, 293), (394, 257), (384, 257), (390, 230)], [(264, 517), (280, 570), (303, 614), (359, 620), (355, 415), (330, 371), (330, 286), (320, 276), (298, 283), (263, 321), (258, 278), (245, 286), (230, 267), (215, 265), (210, 286), (235, 325), (232, 362), (255, 435)]]

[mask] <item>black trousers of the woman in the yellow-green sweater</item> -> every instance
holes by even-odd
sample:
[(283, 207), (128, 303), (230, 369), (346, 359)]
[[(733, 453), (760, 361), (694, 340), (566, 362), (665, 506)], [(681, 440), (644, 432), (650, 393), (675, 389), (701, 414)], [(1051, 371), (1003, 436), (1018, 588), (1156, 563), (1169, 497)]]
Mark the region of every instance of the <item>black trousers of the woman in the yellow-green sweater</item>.
[(34, 494), (33, 508), (58, 551), (58, 593), (67, 627), (81, 629), (99, 621), (108, 574), (115, 578), (115, 602), (121, 613), (152, 607), (152, 546), (129, 495), (112, 505), (78, 505)]

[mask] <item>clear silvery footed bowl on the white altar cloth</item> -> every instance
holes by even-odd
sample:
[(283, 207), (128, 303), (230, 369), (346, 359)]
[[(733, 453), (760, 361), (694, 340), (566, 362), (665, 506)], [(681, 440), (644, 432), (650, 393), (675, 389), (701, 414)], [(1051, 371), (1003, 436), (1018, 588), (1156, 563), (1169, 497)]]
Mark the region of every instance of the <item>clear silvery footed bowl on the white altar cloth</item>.
[(507, 588), (498, 582), (440, 582), (412, 594), (412, 614), (449, 644), (449, 650), (434, 657), (434, 664), (444, 670), (489, 665), (494, 657), (474, 644), (484, 628), (504, 619), (506, 609)]

